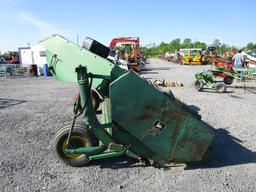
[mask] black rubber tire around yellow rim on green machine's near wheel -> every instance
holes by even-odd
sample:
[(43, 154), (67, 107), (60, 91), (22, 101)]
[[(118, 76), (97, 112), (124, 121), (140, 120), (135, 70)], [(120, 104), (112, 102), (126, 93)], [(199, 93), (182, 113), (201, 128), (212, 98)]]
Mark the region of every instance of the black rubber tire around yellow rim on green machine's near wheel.
[[(55, 135), (53, 139), (52, 149), (54, 156), (59, 161), (65, 163), (66, 165), (70, 165), (72, 167), (81, 167), (85, 166), (87, 163), (90, 162), (90, 160), (87, 158), (85, 154), (79, 155), (78, 157), (70, 157), (65, 153), (63, 150), (63, 146), (65, 145), (65, 142), (68, 137), (68, 133), (70, 130), (71, 125), (67, 125), (63, 128), (61, 128)], [(86, 128), (86, 126), (82, 123), (75, 124), (72, 137), (79, 137), (82, 142), (86, 143), (86, 146), (98, 146), (99, 140)], [(71, 137), (71, 138), (72, 138)], [(80, 140), (80, 142), (81, 142)], [(71, 139), (71, 144), (72, 144)], [(84, 145), (83, 145), (84, 146)], [(76, 147), (82, 147), (82, 146), (76, 146)]]

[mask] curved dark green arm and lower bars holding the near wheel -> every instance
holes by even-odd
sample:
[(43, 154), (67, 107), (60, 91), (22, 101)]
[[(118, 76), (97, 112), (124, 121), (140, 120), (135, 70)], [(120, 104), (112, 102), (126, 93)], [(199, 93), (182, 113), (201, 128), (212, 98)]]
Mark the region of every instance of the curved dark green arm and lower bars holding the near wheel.
[[(90, 83), (89, 79), (93, 81), (93, 79), (101, 78), (101, 79), (108, 79), (107, 76), (104, 75), (93, 75), (91, 73), (87, 73), (87, 69), (84, 66), (79, 66), (76, 68), (77, 73), (77, 81), (80, 90), (80, 97), (82, 106), (84, 106), (84, 121), (88, 125), (89, 130), (103, 143), (102, 146), (95, 146), (95, 147), (81, 147), (77, 149), (66, 149), (67, 153), (75, 153), (75, 154), (86, 154), (90, 160), (96, 159), (103, 159), (103, 158), (110, 158), (116, 157), (125, 154), (126, 147), (122, 147), (122, 150), (112, 150), (109, 152), (105, 152), (107, 148), (111, 148), (111, 144), (115, 143), (112, 139), (112, 136), (107, 131), (107, 128), (111, 127), (112, 124), (110, 122), (101, 124), (95, 111), (93, 109), (92, 98), (90, 94)], [(71, 133), (72, 134), (72, 133)]]

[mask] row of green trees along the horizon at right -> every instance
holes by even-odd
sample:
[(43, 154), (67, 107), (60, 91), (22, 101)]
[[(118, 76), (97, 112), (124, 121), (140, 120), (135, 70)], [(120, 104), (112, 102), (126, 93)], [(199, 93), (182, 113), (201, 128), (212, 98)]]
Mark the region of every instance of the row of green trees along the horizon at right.
[[(161, 42), (159, 45), (149, 44), (144, 47), (141, 47), (141, 52), (149, 57), (154, 57), (157, 55), (165, 54), (166, 52), (174, 53), (177, 49), (182, 48), (201, 48), (207, 49), (207, 47), (215, 47), (215, 52), (219, 55), (224, 54), (226, 52), (237, 51), (238, 48), (235, 46), (230, 46), (225, 43), (221, 43), (219, 39), (215, 39), (212, 44), (207, 45), (204, 42), (200, 41), (192, 41), (190, 38), (185, 38), (183, 41), (181, 39), (173, 39), (170, 43)], [(244, 50), (256, 49), (256, 43), (249, 42)]]

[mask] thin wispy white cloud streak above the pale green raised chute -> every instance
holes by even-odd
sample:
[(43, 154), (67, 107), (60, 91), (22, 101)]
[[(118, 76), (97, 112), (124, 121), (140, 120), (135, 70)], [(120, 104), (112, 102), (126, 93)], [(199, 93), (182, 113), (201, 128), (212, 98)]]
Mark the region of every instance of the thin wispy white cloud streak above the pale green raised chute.
[(64, 29), (63, 27), (61, 27), (60, 25), (45, 22), (45, 21), (35, 17), (34, 15), (32, 15), (30, 12), (19, 11), (16, 13), (16, 15), (21, 20), (36, 27), (44, 36), (51, 35), (53, 33), (58, 33), (58, 34), (62, 34), (65, 36), (73, 36), (74, 35), (74, 32), (68, 31), (68, 30)]

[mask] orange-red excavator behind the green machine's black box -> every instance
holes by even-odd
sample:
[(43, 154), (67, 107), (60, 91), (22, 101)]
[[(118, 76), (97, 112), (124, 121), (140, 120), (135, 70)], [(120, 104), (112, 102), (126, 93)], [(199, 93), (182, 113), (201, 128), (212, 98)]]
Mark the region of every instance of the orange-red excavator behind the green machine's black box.
[(121, 59), (127, 62), (128, 68), (140, 72), (140, 38), (119, 37), (110, 42), (110, 49), (116, 48), (120, 51)]

